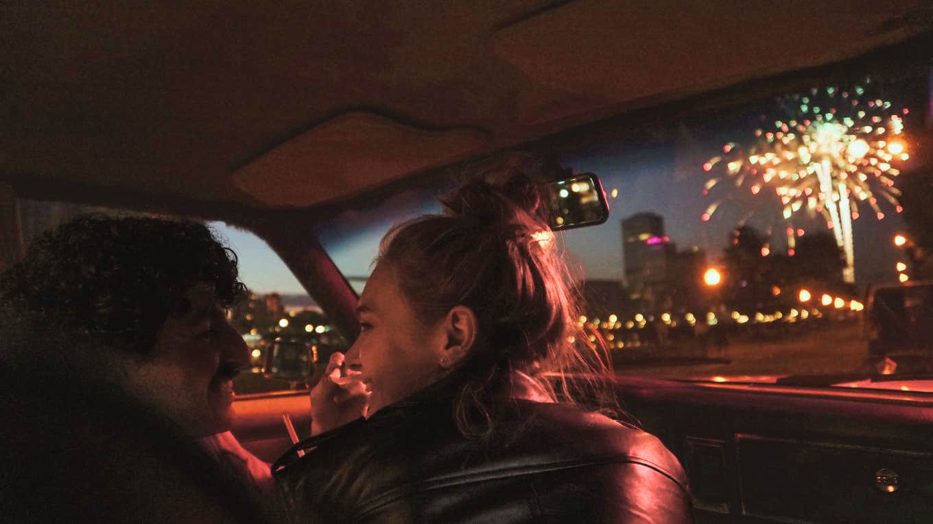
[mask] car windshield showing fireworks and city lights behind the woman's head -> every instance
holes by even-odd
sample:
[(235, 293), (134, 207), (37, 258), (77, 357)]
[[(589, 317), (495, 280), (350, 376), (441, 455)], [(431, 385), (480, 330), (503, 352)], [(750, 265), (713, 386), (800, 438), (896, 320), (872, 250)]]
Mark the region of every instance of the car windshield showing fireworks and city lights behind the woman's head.
[[(617, 372), (857, 387), (917, 371), (933, 344), (910, 326), (929, 325), (929, 300), (901, 291), (933, 278), (930, 78), (833, 77), (549, 145), (606, 188), (609, 221), (563, 237), (585, 269), (580, 322)], [(357, 292), (392, 224), (439, 212), (456, 176), (435, 180), (317, 228)]]

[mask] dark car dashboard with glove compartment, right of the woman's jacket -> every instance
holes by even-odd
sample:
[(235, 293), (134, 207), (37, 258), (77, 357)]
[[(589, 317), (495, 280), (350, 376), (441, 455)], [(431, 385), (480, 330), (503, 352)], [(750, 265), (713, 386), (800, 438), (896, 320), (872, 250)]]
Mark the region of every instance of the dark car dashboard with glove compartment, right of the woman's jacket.
[(700, 522), (933, 515), (933, 407), (922, 396), (633, 378), (618, 393), (683, 463)]

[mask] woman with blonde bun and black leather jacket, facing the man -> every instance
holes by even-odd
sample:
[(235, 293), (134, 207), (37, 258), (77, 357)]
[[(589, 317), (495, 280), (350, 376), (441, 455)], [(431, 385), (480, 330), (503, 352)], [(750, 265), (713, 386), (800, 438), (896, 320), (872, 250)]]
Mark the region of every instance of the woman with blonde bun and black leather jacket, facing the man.
[(658, 439), (574, 402), (611, 391), (593, 379), (606, 367), (580, 343), (536, 186), (512, 174), (443, 203), (383, 239), (342, 362), (353, 374), (331, 361), (312, 392), (316, 435), (273, 466), (295, 519), (692, 521)]

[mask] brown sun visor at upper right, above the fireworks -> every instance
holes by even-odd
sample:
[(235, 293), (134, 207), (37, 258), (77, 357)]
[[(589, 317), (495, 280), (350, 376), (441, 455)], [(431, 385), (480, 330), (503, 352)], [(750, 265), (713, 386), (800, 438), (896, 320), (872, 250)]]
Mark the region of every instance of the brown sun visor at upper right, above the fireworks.
[[(744, 2), (583, 0), (503, 28), (493, 48), (543, 88), (522, 101), (529, 123), (541, 122), (575, 104), (669, 99), (855, 56), (915, 31), (905, 13), (918, 5), (787, 0), (752, 15)], [(563, 107), (541, 92), (566, 93)]]

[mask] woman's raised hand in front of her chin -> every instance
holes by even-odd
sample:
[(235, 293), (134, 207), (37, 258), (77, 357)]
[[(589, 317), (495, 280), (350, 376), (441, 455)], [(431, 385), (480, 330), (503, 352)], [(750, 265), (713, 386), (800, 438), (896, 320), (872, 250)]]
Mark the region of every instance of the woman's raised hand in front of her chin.
[(341, 375), (343, 353), (330, 355), (324, 376), (311, 390), (311, 435), (341, 427), (366, 414), (369, 392), (358, 375)]

